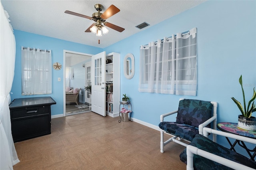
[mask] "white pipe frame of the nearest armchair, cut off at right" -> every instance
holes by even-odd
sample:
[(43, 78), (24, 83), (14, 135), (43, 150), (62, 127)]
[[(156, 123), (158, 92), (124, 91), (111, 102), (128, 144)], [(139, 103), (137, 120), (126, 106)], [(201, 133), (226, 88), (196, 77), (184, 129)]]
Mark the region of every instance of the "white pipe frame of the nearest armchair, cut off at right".
[[(218, 134), (218, 135), (221, 135), (221, 136), (234, 138), (234, 139), (241, 140), (241, 141), (244, 141), (244, 142), (249, 142), (249, 143), (252, 143), (252, 144), (256, 144), (256, 140), (253, 139), (253, 138), (248, 138), (246, 136), (239, 136), (237, 134), (231, 134), (231, 133), (222, 132), (222, 131), (219, 131), (219, 130), (214, 130), (214, 129), (211, 129), (211, 128), (204, 127), (203, 128), (204, 136), (208, 137), (208, 133), (215, 134), (215, 135)], [(212, 154), (210, 152), (206, 152), (204, 150), (196, 148), (195, 146), (188, 145), (186, 147), (186, 149), (187, 149), (187, 151), (186, 151), (186, 154), (187, 154), (186, 169), (187, 170), (194, 170), (194, 167), (193, 167), (193, 156), (194, 156), (194, 154), (202, 156), (202, 157), (207, 158), (209, 160), (212, 160), (214, 162), (218, 162), (218, 163), (220, 163), (224, 166), (228, 166), (228, 167), (233, 168), (235, 170), (254, 170), (253, 168), (250, 168), (248, 166), (239, 164), (239, 163), (234, 162), (232, 160), (228, 160), (228, 159), (223, 158), (221, 156), (217, 156), (217, 155)]]

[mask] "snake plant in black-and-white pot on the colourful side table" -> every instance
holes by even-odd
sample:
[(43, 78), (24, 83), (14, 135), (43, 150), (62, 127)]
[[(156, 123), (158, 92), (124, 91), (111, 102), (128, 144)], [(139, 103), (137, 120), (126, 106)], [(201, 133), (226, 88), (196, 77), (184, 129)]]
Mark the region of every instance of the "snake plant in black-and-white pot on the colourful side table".
[(256, 111), (255, 104), (254, 104), (254, 100), (256, 99), (255, 87), (253, 88), (252, 99), (250, 99), (250, 101), (248, 102), (247, 109), (246, 109), (242, 75), (239, 78), (239, 83), (242, 87), (244, 108), (242, 107), (242, 104), (239, 101), (237, 101), (234, 97), (231, 97), (231, 99), (236, 103), (236, 105), (238, 106), (238, 109), (242, 113), (242, 115), (238, 115), (238, 127), (245, 129), (245, 130), (253, 130), (254, 131), (254, 130), (256, 130), (256, 118), (252, 117), (252, 113)]

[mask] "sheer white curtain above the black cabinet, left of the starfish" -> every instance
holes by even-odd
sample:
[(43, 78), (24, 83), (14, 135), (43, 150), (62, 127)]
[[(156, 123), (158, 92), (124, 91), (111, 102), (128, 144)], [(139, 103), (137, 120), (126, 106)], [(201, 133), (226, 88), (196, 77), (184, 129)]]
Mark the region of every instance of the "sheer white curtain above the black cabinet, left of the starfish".
[(22, 95), (52, 93), (51, 50), (21, 47)]

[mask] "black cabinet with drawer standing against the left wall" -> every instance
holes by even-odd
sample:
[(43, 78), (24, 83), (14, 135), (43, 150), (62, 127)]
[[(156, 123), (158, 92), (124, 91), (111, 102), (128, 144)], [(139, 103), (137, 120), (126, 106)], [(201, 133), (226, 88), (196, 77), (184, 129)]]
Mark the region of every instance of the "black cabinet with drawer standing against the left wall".
[(51, 134), (51, 97), (14, 99), (9, 105), (12, 124), (12, 138), (20, 142)]

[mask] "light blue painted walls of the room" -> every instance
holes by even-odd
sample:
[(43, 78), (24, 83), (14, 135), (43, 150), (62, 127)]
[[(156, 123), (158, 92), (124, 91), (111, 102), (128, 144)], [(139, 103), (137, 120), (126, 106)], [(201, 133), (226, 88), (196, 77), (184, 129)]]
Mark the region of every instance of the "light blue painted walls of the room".
[[(150, 19), (146, 22), (150, 24)], [(194, 27), (198, 30), (197, 95), (190, 97), (138, 92), (140, 45)], [(63, 49), (90, 54), (100, 51), (120, 53), (120, 98), (126, 93), (132, 102), (132, 117), (156, 126), (160, 122), (161, 114), (177, 110), (179, 98), (216, 101), (218, 122), (237, 122), (239, 110), (230, 98), (235, 97), (242, 101), (238, 78), (243, 75), (247, 101), (252, 96), (253, 87), (256, 86), (256, 1), (207, 1), (105, 49), (18, 30), (15, 30), (14, 34), (17, 52), (12, 99), (22, 97), (20, 95), (21, 45), (52, 49), (53, 62), (62, 61)], [(125, 34), (125, 31), (122, 34)], [(135, 75), (130, 80), (123, 75), (122, 63), (127, 53), (133, 53), (135, 57)], [(52, 107), (53, 115), (62, 114), (63, 111), (63, 98), (59, 95), (62, 94), (63, 89), (60, 87), (63, 83), (58, 82), (57, 77), (63, 77), (62, 71), (53, 71), (52, 97), (57, 103), (61, 103)], [(175, 117), (170, 120), (174, 121)], [(218, 140), (221, 144), (227, 145), (224, 138)]]

